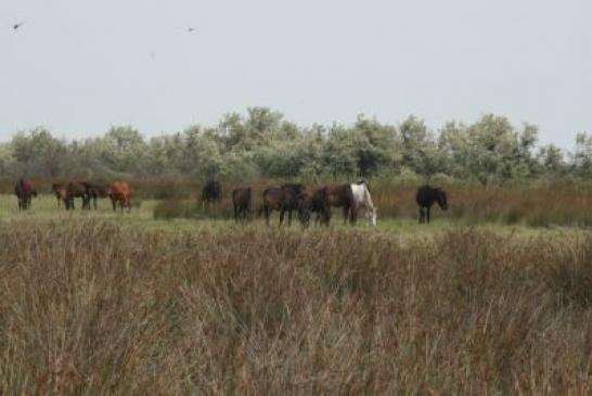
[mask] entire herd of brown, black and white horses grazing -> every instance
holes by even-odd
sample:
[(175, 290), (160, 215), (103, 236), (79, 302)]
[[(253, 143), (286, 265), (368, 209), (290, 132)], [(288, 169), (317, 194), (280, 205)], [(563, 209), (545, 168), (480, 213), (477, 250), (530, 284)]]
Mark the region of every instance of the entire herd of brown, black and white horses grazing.
[[(52, 193), (57, 200), (57, 206), (64, 206), (66, 210), (75, 209), (75, 199), (80, 199), (82, 209), (96, 209), (98, 199), (108, 197), (113, 210), (117, 205), (121, 212), (127, 208), (131, 210), (132, 189), (125, 181), (116, 181), (111, 184), (102, 184), (87, 181), (70, 181), (67, 183), (53, 183)], [(18, 209), (26, 210), (30, 207), (37, 190), (30, 180), (21, 178), (15, 187), (14, 193), (18, 200)], [(222, 187), (217, 180), (209, 180), (205, 183), (201, 193), (203, 207), (216, 204), (221, 201)], [(446, 192), (440, 188), (422, 186), (415, 194), (415, 202), (420, 208), (420, 222), (429, 222), (430, 208), (437, 203), (443, 210), (448, 209)], [(236, 223), (253, 219), (253, 189), (241, 187), (232, 191), (232, 205), (234, 208), (234, 221)], [(268, 188), (262, 193), (262, 201), (257, 214), (265, 218), (269, 226), (271, 214), (280, 213), (280, 226), (287, 214), (287, 222), (292, 223), (293, 213), (304, 227), (310, 225), (314, 215), (316, 225), (329, 226), (332, 217), (331, 208), (340, 208), (344, 222), (355, 223), (361, 210), (370, 226), (376, 226), (376, 207), (372, 202), (370, 188), (364, 180), (353, 183), (329, 184), (316, 189), (307, 189), (301, 183), (285, 183), (279, 187)]]

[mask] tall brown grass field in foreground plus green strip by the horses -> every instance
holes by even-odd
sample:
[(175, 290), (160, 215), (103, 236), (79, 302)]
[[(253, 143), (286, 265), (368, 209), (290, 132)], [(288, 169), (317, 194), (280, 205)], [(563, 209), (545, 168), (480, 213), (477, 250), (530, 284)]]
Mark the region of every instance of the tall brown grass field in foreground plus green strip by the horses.
[(0, 196), (0, 394), (592, 391), (585, 222), (304, 231), (157, 205)]

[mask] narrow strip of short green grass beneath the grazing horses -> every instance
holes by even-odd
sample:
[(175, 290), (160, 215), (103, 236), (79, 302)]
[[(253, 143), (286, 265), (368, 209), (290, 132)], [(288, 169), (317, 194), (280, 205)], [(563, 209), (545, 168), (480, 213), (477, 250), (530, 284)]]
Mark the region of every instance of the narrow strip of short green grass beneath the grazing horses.
[[(257, 218), (245, 226), (236, 226), (233, 218), (227, 212), (214, 214), (208, 217), (208, 213), (197, 205), (194, 200), (183, 202), (183, 210), (194, 210), (192, 218), (155, 218), (154, 208), (162, 202), (160, 200), (136, 200), (131, 213), (119, 209), (113, 212), (108, 200), (99, 201), (98, 210), (81, 210), (79, 200), (76, 202), (76, 210), (66, 212), (63, 207), (59, 208), (53, 195), (42, 194), (34, 199), (33, 207), (27, 212), (18, 212), (16, 199), (13, 195), (0, 195), (0, 223), (26, 223), (26, 225), (49, 225), (61, 223), (64, 227), (86, 220), (105, 220), (118, 226), (129, 227), (134, 230), (145, 232), (166, 232), (166, 233), (194, 233), (203, 231), (223, 231), (236, 227), (247, 229), (263, 229), (262, 218)], [(216, 209), (213, 209), (215, 212)], [(284, 223), (286, 228), (287, 222)], [(271, 218), (271, 228), (279, 227), (279, 214), (273, 213)], [(442, 213), (438, 208), (433, 209), (432, 223), (420, 225), (416, 219), (410, 215), (398, 217), (381, 218), (378, 212), (378, 222), (376, 228), (369, 227), (364, 219), (360, 218), (355, 227), (344, 225), (339, 210), (334, 213), (332, 219), (332, 229), (343, 230), (344, 232), (363, 231), (374, 234), (396, 235), (403, 241), (412, 241), (417, 238), (432, 239), (446, 232), (458, 229), (469, 229), (475, 231), (488, 231), (497, 234), (513, 234), (524, 238), (546, 235), (549, 238), (567, 238), (576, 234), (587, 234), (590, 231), (580, 226), (549, 226), (538, 227), (525, 222), (506, 225), (500, 221), (477, 222), (469, 218), (450, 216), (450, 213)], [(310, 233), (314, 232), (316, 227), (311, 226), (308, 230), (303, 230), (297, 219), (293, 219), (291, 230), (294, 232)]]

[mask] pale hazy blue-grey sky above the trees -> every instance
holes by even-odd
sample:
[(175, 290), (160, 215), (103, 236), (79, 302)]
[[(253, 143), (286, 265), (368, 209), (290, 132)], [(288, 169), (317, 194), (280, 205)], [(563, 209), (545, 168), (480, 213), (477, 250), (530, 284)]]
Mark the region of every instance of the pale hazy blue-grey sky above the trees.
[(0, 140), (261, 105), (303, 126), (496, 113), (571, 149), (592, 131), (591, 18), (590, 0), (0, 0)]

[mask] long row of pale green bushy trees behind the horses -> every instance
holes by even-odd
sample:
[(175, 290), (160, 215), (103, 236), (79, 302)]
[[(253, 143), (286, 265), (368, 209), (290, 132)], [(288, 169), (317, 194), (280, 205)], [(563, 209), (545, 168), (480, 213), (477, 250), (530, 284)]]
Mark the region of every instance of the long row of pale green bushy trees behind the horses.
[(482, 184), (535, 178), (592, 176), (592, 136), (579, 133), (575, 151), (537, 146), (538, 128), (516, 127), (492, 114), (438, 130), (410, 116), (399, 125), (359, 116), (353, 125), (300, 127), (281, 113), (252, 107), (217, 126), (146, 139), (131, 126), (67, 141), (43, 127), (17, 132), (0, 145), (0, 173), (36, 178), (143, 178), (221, 176), (329, 178), (415, 175)]

